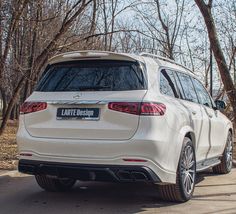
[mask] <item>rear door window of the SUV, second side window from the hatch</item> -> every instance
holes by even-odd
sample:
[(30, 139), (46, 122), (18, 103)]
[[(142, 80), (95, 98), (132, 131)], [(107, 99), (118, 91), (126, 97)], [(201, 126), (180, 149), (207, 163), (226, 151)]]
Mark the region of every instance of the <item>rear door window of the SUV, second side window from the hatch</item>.
[(180, 72), (177, 72), (177, 75), (182, 85), (185, 99), (191, 102), (198, 103), (197, 94), (194, 89), (192, 80), (190, 79), (190, 76)]

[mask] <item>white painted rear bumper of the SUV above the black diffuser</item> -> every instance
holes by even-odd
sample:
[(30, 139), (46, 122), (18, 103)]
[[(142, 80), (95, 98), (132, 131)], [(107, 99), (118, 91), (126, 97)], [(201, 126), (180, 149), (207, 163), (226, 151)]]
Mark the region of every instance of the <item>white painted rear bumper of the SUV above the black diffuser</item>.
[[(148, 128), (150, 125), (143, 124), (142, 127)], [(162, 130), (156, 132), (156, 128), (149, 128), (150, 133), (142, 130), (143, 128), (135, 137), (126, 141), (36, 138), (29, 135), (21, 118), (17, 144), (22, 161), (109, 166), (109, 169), (110, 166), (121, 166), (121, 169), (123, 166), (129, 166), (130, 169), (136, 166), (146, 167), (152, 170), (161, 182), (175, 183), (179, 156), (177, 145), (181, 144), (173, 145), (173, 133), (166, 134)], [(128, 162), (125, 159), (142, 159), (145, 162)]]

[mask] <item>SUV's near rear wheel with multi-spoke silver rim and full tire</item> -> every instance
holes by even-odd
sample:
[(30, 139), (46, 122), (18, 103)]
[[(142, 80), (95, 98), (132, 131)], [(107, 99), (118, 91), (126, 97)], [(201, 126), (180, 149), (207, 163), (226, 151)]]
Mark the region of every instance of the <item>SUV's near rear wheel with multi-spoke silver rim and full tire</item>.
[[(188, 160), (186, 162), (186, 160)], [(159, 186), (161, 198), (172, 202), (186, 202), (192, 198), (196, 180), (196, 156), (191, 139), (185, 137), (176, 172), (176, 184)]]

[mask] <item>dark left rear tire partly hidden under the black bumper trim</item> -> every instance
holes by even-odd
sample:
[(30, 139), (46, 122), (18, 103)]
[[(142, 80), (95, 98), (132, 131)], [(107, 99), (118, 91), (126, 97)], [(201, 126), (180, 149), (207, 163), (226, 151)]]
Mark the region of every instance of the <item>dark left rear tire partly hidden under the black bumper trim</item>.
[(69, 179), (69, 178), (53, 178), (49, 177), (47, 175), (36, 175), (35, 179), (38, 183), (38, 185), (49, 192), (59, 192), (59, 191), (67, 191), (70, 190), (76, 180), (75, 179)]

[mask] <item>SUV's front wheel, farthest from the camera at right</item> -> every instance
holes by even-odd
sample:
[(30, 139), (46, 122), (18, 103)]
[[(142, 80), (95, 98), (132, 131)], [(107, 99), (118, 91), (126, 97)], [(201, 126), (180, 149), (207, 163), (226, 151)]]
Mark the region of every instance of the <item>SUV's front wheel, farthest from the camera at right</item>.
[(233, 166), (233, 138), (232, 133), (228, 133), (225, 150), (221, 157), (221, 163), (212, 167), (215, 174), (228, 174)]

